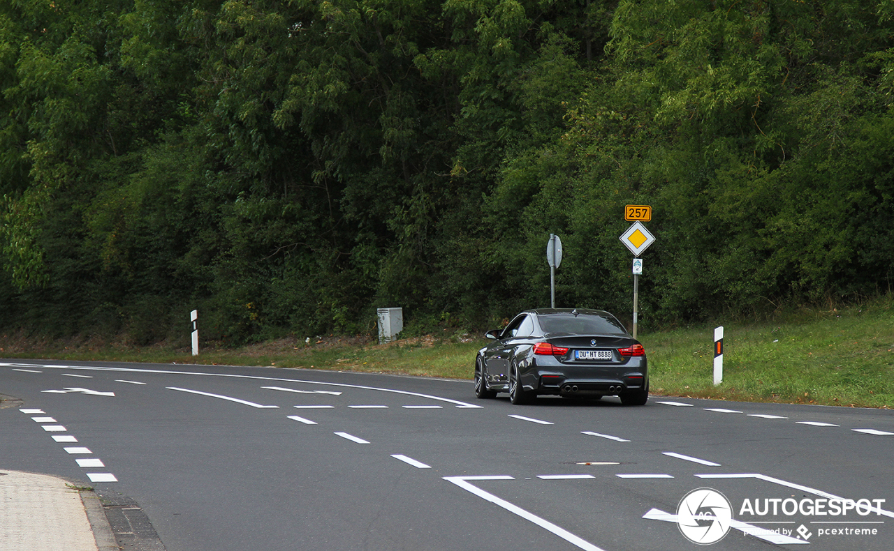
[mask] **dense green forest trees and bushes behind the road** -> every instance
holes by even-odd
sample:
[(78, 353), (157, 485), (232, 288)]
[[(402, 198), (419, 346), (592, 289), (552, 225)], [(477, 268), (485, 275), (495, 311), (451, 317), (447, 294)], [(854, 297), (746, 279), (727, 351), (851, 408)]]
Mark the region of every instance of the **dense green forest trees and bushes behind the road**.
[(890, 290), (888, 0), (8, 0), (0, 326), (240, 343)]

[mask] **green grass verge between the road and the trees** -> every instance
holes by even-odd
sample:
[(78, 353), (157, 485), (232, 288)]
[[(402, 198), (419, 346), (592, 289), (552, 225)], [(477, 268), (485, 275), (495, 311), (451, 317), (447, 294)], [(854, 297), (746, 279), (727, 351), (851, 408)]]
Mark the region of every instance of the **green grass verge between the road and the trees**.
[[(748, 402), (894, 408), (894, 296), (828, 312), (799, 309), (774, 321), (725, 326), (724, 375), (713, 386), (713, 325), (640, 335), (653, 394)], [(470, 379), (484, 338), (287, 338), (241, 348), (135, 348), (4, 337), (0, 355), (80, 361), (266, 365)], [(0, 388), (2, 391), (2, 388)]]

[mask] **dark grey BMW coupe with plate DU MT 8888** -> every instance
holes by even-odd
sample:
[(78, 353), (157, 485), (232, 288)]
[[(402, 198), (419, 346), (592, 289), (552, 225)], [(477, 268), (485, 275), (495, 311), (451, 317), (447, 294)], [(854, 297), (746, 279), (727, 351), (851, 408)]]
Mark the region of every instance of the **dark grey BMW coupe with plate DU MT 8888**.
[(508, 392), (512, 404), (537, 395), (617, 396), (645, 405), (649, 372), (645, 349), (611, 313), (538, 309), (519, 313), (475, 359), (475, 394)]

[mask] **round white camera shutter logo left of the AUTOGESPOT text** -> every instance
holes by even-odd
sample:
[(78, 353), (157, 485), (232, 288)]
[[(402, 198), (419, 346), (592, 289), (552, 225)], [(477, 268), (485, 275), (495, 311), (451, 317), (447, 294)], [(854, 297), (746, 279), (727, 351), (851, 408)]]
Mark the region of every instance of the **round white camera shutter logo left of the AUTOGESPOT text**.
[(717, 543), (726, 537), (731, 523), (730, 500), (715, 489), (697, 488), (679, 500), (677, 526), (693, 543)]

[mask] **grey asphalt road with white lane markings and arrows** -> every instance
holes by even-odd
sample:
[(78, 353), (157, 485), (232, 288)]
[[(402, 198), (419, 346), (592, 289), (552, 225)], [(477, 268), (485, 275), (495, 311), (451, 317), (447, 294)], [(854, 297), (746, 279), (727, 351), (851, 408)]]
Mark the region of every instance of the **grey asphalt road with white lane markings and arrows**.
[(0, 409), (0, 468), (126, 497), (168, 551), (666, 551), (727, 529), (709, 548), (881, 551), (894, 538), (890, 411), (513, 406), (477, 400), (470, 381), (19, 360), (0, 361), (0, 394), (22, 400)]

